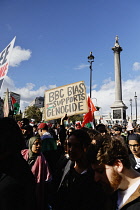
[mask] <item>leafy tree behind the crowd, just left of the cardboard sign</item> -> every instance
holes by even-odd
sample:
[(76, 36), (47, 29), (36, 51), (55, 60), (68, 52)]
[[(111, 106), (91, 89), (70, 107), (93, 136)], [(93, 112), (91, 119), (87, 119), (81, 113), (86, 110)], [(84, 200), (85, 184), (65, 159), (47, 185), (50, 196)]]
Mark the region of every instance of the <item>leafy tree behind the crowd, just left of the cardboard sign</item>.
[(28, 119), (35, 119), (36, 122), (39, 122), (42, 120), (42, 113), (41, 113), (40, 109), (36, 106), (29, 106), (25, 110), (25, 116)]

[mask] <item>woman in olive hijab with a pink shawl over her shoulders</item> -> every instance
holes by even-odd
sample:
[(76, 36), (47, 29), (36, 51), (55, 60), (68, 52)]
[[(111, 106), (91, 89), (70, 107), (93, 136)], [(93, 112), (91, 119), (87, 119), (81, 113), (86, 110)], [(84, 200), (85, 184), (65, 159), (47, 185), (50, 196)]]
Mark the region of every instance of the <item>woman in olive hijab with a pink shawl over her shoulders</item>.
[(23, 158), (28, 162), (29, 167), (36, 181), (36, 195), (38, 201), (38, 209), (45, 209), (45, 182), (50, 177), (48, 163), (41, 153), (41, 139), (38, 136), (33, 136), (29, 139), (29, 149), (21, 151)]

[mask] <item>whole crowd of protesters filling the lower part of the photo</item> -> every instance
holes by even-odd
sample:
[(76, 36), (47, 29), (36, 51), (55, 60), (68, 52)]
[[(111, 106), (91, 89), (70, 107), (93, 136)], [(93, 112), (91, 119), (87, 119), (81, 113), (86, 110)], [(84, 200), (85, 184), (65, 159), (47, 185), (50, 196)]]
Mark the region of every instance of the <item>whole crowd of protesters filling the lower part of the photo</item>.
[(140, 126), (67, 119), (0, 119), (0, 209), (140, 209)]

